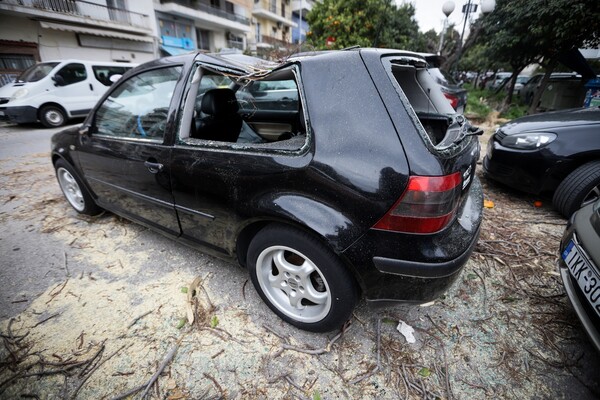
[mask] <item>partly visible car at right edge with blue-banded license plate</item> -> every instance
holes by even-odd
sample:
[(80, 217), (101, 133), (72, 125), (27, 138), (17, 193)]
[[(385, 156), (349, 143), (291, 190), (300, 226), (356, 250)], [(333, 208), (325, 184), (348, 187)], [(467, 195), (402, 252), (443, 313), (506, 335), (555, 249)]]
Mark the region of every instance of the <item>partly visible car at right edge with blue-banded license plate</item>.
[(560, 243), (565, 291), (592, 344), (600, 352), (600, 201), (577, 211)]

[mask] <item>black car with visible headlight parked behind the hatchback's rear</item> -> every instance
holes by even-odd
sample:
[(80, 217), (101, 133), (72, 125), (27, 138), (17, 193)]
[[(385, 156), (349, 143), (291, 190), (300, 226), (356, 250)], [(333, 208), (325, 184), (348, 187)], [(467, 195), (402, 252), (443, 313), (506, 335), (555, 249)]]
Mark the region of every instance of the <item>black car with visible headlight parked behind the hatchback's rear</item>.
[(515, 189), (554, 192), (569, 217), (600, 198), (600, 108), (577, 108), (517, 118), (490, 138), (487, 176)]

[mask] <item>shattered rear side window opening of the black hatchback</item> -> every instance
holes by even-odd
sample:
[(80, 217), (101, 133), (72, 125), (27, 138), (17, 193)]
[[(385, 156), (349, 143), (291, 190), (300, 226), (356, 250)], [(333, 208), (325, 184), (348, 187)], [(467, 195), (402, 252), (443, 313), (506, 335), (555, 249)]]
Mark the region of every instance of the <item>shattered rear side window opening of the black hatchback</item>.
[(191, 78), (179, 142), (245, 151), (298, 151), (305, 115), (292, 68), (271, 79), (225, 76), (199, 66)]

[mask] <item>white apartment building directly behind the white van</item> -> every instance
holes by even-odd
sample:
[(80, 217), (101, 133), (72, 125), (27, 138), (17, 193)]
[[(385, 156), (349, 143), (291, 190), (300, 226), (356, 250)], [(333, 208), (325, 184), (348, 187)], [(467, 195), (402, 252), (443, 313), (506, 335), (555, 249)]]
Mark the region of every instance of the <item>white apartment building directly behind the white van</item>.
[(52, 59), (157, 57), (152, 0), (0, 1), (0, 85)]

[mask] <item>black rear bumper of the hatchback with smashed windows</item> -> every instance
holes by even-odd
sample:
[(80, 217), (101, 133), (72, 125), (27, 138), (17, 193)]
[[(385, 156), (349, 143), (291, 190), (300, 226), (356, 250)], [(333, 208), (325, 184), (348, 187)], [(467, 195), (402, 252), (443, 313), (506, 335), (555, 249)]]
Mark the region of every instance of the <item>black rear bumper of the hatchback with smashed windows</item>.
[(479, 237), (483, 193), (475, 179), (454, 223), (432, 235), (371, 229), (344, 255), (370, 301), (425, 302), (448, 290)]

